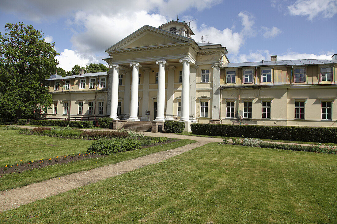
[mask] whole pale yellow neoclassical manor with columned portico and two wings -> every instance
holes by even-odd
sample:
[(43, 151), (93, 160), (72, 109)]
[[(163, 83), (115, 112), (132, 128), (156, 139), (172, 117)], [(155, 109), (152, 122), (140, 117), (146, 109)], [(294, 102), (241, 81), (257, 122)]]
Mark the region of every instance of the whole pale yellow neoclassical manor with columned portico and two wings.
[[(184, 22), (144, 26), (106, 50), (107, 73), (46, 80), (45, 116), (336, 126), (332, 60), (229, 63), (221, 44), (197, 43)], [(325, 116), (325, 117), (323, 117)]]

